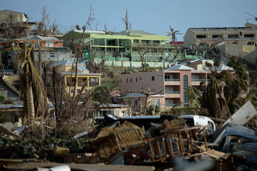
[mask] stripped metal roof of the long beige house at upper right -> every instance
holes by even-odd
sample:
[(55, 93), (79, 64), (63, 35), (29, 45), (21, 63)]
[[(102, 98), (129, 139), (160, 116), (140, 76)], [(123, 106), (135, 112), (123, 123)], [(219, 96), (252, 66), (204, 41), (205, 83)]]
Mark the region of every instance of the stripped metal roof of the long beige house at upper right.
[(233, 33), (238, 31), (243, 32), (257, 32), (256, 29), (252, 27), (214, 27), (214, 28), (189, 28), (193, 33)]

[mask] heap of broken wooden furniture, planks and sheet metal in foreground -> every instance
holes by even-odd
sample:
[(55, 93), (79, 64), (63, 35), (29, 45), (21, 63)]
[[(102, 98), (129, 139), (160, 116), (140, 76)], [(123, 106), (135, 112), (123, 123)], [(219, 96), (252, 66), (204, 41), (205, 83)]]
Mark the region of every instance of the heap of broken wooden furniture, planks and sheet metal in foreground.
[[(191, 124), (179, 116), (135, 124), (109, 115), (112, 119), (102, 118), (93, 131), (73, 135), (63, 144), (49, 143), (52, 161), (62, 160), (65, 164), (49, 162), (42, 156), (18, 159), (21, 156), (16, 153), (21, 147), (13, 145), (0, 151), (0, 165), (16, 170), (54, 170), (60, 166), (63, 170), (256, 170), (257, 129), (244, 126), (256, 114), (247, 102), (213, 133), (211, 123)], [(72, 141), (83, 143), (81, 140), (87, 140), (87, 145), (80, 144), (80, 151), (74, 150), (74, 144), (65, 145)], [(12, 154), (2, 155), (7, 149)]]

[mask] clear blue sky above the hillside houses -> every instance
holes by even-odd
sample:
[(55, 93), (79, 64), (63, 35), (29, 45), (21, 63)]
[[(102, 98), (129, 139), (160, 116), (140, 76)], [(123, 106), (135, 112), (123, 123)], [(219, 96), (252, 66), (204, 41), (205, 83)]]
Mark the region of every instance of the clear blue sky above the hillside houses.
[[(26, 0), (21, 3), (18, 0), (1, 1), (0, 10), (19, 11), (27, 14), (30, 21), (40, 21), (41, 8), (47, 6), (51, 23), (61, 24), (64, 28), (82, 27), (88, 20), (90, 4), (92, 5), (95, 21), (92, 22), (92, 30), (107, 30), (120, 32), (125, 30), (121, 16), (125, 17), (128, 10), (129, 21), (133, 30), (143, 30), (159, 35), (167, 35), (169, 25), (174, 31), (178, 41), (183, 41), (183, 36), (188, 28), (202, 27), (244, 27), (247, 18), (257, 16), (257, 0)], [(25, 2), (25, 1), (24, 1)], [(246, 14), (244, 12), (248, 12)], [(255, 20), (249, 23), (257, 24)], [(88, 28), (87, 30), (90, 30)], [(170, 38), (171, 40), (171, 38)]]

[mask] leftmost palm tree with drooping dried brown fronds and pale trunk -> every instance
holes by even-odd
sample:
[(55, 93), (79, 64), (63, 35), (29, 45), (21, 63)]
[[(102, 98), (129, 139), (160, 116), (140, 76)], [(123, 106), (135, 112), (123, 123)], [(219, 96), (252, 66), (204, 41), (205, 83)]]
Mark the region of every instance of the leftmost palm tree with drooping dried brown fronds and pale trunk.
[(47, 112), (48, 105), (43, 80), (34, 65), (32, 50), (35, 43), (31, 45), (31, 42), (27, 40), (21, 48), (21, 53), (18, 54), (18, 58), (21, 60), (19, 82), (24, 99), (23, 116), (28, 114), (30, 123), (35, 121), (38, 114), (43, 116)]

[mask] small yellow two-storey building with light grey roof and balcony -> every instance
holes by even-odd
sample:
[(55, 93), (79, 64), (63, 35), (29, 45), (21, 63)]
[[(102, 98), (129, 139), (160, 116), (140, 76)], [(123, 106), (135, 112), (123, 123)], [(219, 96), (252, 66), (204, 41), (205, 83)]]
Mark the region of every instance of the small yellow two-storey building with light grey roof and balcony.
[[(61, 62), (56, 62), (51, 65), (51, 68), (57, 67), (58, 66), (58, 72), (60, 75), (64, 76), (65, 79), (65, 87), (66, 91), (69, 91), (70, 87), (70, 81), (71, 81), (71, 92), (73, 93), (79, 93), (82, 87), (86, 84), (85, 86), (85, 91), (94, 87), (98, 86), (101, 84), (101, 75), (100, 73), (89, 73), (89, 70), (87, 70), (82, 64), (78, 64), (78, 82), (77, 82), (77, 89), (74, 90), (75, 86), (75, 67), (76, 64), (75, 62), (73, 63), (73, 68), (72, 68), (72, 63), (73, 61), (70, 60), (64, 60)], [(71, 77), (72, 74), (72, 77)], [(48, 87), (51, 87), (50, 84)]]

